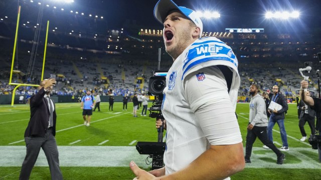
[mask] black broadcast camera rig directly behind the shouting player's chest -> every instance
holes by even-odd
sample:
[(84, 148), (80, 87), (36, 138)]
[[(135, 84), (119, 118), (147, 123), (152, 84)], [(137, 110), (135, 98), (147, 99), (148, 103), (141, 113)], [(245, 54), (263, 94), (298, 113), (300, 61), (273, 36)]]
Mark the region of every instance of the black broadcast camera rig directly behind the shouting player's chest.
[[(149, 110), (149, 117), (162, 119), (162, 102), (163, 102), (163, 90), (166, 87), (166, 75), (167, 71), (154, 70), (154, 76), (149, 78), (148, 94), (154, 95), (155, 98), (152, 102), (152, 106)], [(140, 154), (148, 154), (146, 158), (146, 164), (151, 163), (151, 169), (158, 169), (164, 166), (164, 152), (166, 149), (166, 143), (163, 142), (164, 123), (157, 129), (158, 138), (157, 142), (137, 142), (136, 149)], [(148, 161), (148, 158), (152, 158), (152, 161)]]

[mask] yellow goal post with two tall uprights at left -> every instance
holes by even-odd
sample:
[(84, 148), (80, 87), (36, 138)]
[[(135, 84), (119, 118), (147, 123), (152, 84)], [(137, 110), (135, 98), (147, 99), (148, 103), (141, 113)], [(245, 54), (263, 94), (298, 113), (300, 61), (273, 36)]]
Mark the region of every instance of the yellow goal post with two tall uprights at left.
[[(11, 71), (10, 71), (10, 79), (9, 79), (9, 85), (17, 85), (12, 93), (12, 100), (11, 100), (11, 105), (13, 106), (15, 103), (15, 95), (16, 95), (16, 90), (20, 86), (36, 86), (38, 87), (39, 84), (28, 84), (28, 83), (13, 83), (12, 82), (12, 75), (14, 71), (14, 62), (15, 62), (15, 54), (16, 54), (16, 47), (17, 47), (17, 39), (18, 39), (18, 29), (19, 29), (19, 20), (20, 20), (20, 10), (21, 10), (21, 5), (19, 5), (18, 9), (18, 17), (17, 17), (17, 27), (16, 27), (16, 35), (15, 35), (15, 43), (14, 43), (14, 52), (12, 55), (12, 62), (11, 62)], [(48, 40), (48, 29), (49, 29), (49, 20), (47, 21), (47, 32), (46, 32), (46, 42), (45, 42), (45, 52), (44, 52), (44, 60), (43, 60), (43, 65), (42, 65), (42, 72), (41, 72), (41, 80), (44, 79), (44, 69), (45, 69), (45, 61), (46, 61), (46, 51), (47, 51), (47, 40)]]

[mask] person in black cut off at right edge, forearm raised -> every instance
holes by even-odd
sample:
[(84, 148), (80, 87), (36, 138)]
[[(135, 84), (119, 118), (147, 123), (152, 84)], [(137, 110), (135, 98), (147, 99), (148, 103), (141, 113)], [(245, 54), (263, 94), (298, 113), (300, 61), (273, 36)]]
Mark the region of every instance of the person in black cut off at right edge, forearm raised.
[[(303, 102), (310, 106), (313, 110), (315, 110), (317, 113), (321, 112), (321, 99), (316, 97), (310, 97), (304, 93), (302, 89), (308, 87), (308, 82), (305, 80), (301, 81), (301, 88), (300, 88), (300, 98), (303, 100)], [(320, 125), (316, 127), (316, 130), (320, 131)], [(321, 162), (321, 142), (318, 142), (318, 153), (319, 153), (319, 161)]]

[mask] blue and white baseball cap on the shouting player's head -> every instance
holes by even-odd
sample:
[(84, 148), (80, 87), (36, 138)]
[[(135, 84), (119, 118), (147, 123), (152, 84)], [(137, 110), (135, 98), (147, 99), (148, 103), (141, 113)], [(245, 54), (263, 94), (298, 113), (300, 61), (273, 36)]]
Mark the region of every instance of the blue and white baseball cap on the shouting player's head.
[(165, 18), (172, 9), (178, 9), (188, 19), (192, 20), (196, 26), (200, 27), (200, 37), (203, 33), (203, 22), (199, 15), (192, 9), (184, 6), (178, 6), (173, 0), (159, 0), (154, 7), (154, 16), (158, 22), (164, 23)]

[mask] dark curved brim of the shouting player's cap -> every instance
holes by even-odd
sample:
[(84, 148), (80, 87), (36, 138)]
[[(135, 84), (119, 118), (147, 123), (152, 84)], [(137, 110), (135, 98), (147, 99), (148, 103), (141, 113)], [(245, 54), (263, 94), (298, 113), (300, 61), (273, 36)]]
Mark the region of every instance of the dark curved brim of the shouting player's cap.
[(154, 7), (154, 16), (158, 22), (163, 24), (168, 12), (172, 9), (180, 10), (179, 6), (173, 2), (173, 0), (159, 0)]

